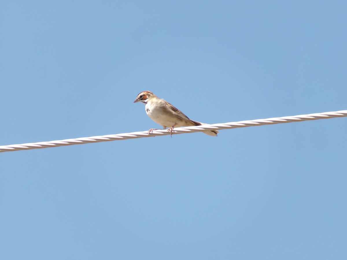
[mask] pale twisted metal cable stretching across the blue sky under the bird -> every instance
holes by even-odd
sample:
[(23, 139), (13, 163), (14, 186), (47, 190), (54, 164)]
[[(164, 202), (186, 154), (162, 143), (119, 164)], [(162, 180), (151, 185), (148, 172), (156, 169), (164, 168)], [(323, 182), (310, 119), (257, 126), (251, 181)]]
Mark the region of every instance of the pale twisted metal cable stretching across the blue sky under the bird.
[[(198, 125), (194, 127), (178, 127), (178, 128), (174, 128), (174, 132), (172, 132), (172, 134), (176, 135), (180, 133), (202, 132), (206, 130), (223, 130), (223, 129), (231, 129), (231, 128), (239, 128), (239, 127), (252, 127), (257, 125), (265, 125), (265, 124), (291, 123), (291, 122), (317, 120), (317, 119), (325, 119), (325, 118), (338, 118), (343, 116), (347, 116), (347, 110), (307, 114), (307, 115), (283, 116), (280, 118), (245, 120), (245, 121), (229, 122), (229, 123), (221, 123), (221, 124), (207, 124), (207, 125)], [(57, 146), (88, 144), (91, 142), (116, 141), (116, 140), (124, 140), (124, 139), (165, 136), (165, 135), (170, 135), (170, 132), (168, 132), (167, 130), (154, 130), (150, 134), (148, 133), (148, 131), (144, 131), (144, 132), (132, 132), (132, 133), (119, 133), (117, 135), (81, 137), (76, 139), (65, 139), (65, 140), (56, 140), (56, 141), (48, 141), (48, 142), (34, 142), (34, 143), (20, 144), (20, 145), (4, 145), (4, 146), (0, 146), (0, 153), (6, 152), (6, 151), (30, 150), (30, 149), (39, 149), (39, 148), (48, 148), (48, 147), (57, 147)]]

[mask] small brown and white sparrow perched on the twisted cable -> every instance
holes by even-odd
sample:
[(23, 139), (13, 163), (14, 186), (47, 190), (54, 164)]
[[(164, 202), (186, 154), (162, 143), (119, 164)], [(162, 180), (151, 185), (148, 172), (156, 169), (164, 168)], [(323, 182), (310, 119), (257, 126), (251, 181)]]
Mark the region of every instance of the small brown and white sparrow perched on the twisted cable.
[[(139, 93), (134, 103), (136, 102), (144, 103), (146, 113), (150, 119), (162, 125), (164, 129), (168, 128), (168, 131), (171, 133), (171, 137), (174, 127), (190, 127), (205, 124), (189, 119), (188, 116), (183, 114), (169, 102), (157, 97), (153, 94), (153, 92), (148, 90)], [(153, 130), (158, 129), (150, 129), (148, 130), (148, 134), (150, 134)], [(210, 136), (217, 136), (218, 131), (206, 130), (203, 131), (203, 133)]]

